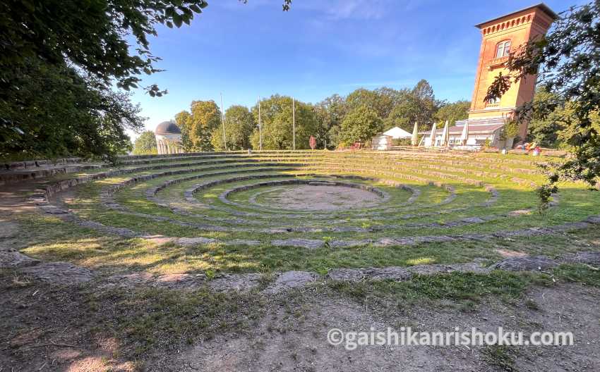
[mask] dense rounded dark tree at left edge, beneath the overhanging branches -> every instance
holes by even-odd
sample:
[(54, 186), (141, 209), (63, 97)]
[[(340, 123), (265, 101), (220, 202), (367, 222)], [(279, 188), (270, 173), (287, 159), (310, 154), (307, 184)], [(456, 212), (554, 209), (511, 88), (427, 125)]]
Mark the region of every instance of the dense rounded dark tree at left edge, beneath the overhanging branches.
[(125, 130), (143, 128), (140, 109), (128, 94), (107, 89), (74, 68), (32, 61), (13, 72), (11, 83), (18, 89), (9, 101), (0, 99), (1, 158), (116, 161), (131, 149)]

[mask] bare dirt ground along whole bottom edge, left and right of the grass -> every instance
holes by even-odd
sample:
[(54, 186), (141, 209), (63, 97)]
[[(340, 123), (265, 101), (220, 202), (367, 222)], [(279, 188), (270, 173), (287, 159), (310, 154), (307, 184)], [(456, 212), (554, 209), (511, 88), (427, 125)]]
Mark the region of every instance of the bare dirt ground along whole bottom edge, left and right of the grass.
[[(260, 317), (247, 327), (131, 359), (121, 356), (120, 340), (98, 336), (103, 332), (90, 315), (86, 291), (6, 279), (12, 283), (0, 292), (0, 371), (600, 370), (600, 290), (579, 284), (532, 287), (514, 304), (488, 297), (474, 306), (451, 301), (371, 306), (310, 287), (265, 298)], [(359, 346), (348, 351), (329, 345), (326, 338), (330, 328), (408, 326), (417, 331), (499, 326), (526, 333), (570, 330), (575, 345), (511, 347), (499, 353), (489, 347), (423, 346)]]

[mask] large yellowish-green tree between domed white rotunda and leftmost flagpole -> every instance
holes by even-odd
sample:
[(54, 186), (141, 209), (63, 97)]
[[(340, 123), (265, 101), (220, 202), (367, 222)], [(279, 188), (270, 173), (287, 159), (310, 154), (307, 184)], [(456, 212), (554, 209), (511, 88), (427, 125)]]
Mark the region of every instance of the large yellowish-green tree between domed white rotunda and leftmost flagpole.
[(181, 128), (185, 151), (212, 151), (212, 133), (221, 125), (221, 111), (215, 101), (192, 101), (190, 111), (175, 116)]

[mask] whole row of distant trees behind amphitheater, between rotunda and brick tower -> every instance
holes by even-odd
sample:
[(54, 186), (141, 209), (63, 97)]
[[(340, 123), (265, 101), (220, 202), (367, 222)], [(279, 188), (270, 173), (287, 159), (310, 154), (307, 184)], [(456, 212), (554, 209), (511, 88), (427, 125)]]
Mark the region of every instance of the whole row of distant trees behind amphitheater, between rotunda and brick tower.
[[(342, 97), (333, 94), (317, 104), (295, 102), (296, 149), (308, 149), (314, 136), (317, 147), (337, 148), (369, 140), (384, 130), (398, 126), (412, 132), (414, 123), (421, 129), (432, 123), (467, 118), (469, 101), (449, 103), (436, 99), (426, 80), (412, 89), (356, 89)], [(190, 108), (175, 116), (181, 128), (186, 151), (224, 149), (222, 115), (215, 101), (192, 101)], [(292, 97), (275, 94), (251, 108), (231, 106), (225, 111), (227, 149), (292, 149)], [(141, 144), (140, 144), (141, 145)], [(137, 146), (136, 146), (137, 147)]]

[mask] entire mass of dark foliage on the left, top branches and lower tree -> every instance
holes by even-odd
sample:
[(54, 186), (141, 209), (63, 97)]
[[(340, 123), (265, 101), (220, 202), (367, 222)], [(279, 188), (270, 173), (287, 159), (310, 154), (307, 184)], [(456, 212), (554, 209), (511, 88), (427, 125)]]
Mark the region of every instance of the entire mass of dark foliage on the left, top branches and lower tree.
[[(101, 157), (131, 149), (140, 110), (113, 91), (158, 70), (148, 35), (189, 24), (204, 0), (0, 3), (0, 156)], [(136, 48), (130, 48), (132, 41)], [(152, 96), (162, 92), (145, 87)]]

